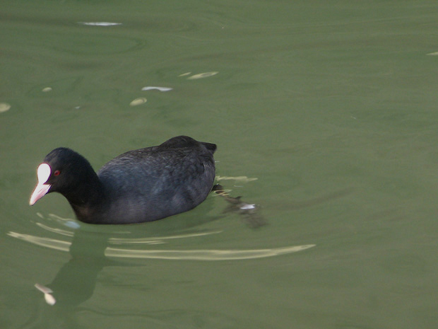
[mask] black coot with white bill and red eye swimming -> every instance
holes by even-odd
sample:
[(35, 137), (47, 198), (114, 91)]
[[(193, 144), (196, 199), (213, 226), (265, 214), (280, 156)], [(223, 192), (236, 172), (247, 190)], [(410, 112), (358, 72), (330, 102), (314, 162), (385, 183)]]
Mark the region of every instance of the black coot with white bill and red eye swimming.
[(100, 171), (71, 149), (59, 147), (38, 166), (29, 204), (59, 192), (80, 221), (130, 224), (187, 212), (213, 187), (216, 145), (187, 136), (128, 151)]

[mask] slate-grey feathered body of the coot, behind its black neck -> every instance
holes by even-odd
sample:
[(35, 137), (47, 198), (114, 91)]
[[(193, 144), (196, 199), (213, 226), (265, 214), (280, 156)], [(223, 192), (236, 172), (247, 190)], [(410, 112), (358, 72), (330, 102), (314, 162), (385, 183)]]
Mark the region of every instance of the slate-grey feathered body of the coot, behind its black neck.
[(112, 159), (97, 172), (107, 198), (105, 221), (153, 221), (196, 207), (213, 186), (215, 149), (174, 137)]

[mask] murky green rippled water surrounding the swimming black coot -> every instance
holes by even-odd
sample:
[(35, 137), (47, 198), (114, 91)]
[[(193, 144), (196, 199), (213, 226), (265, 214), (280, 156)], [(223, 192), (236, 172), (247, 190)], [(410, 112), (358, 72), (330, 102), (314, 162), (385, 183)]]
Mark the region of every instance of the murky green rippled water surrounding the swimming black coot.
[[(437, 18), (434, 1), (1, 1), (0, 328), (434, 328)], [(133, 226), (28, 206), (54, 147), (97, 169), (178, 134), (257, 178), (221, 183), (268, 225), (213, 196)]]

